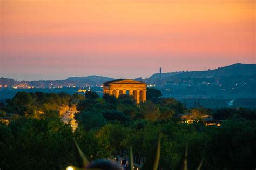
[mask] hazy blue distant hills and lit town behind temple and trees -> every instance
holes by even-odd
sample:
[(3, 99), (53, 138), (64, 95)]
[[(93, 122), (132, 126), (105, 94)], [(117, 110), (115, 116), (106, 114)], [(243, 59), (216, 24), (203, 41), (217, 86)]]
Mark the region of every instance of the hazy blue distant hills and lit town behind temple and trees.
[[(102, 76), (69, 77), (65, 80), (16, 81), (0, 78), (0, 100), (11, 98), (17, 91), (43, 91), (84, 93), (92, 90), (103, 94), (102, 84), (114, 78)], [(224, 107), (246, 100), (254, 108), (256, 96), (256, 64), (233, 64), (205, 71), (177, 71), (159, 73), (134, 80), (147, 83), (147, 87), (161, 91), (163, 97), (173, 97), (188, 106), (200, 102), (208, 107)], [(210, 100), (209, 100), (210, 99)], [(242, 100), (242, 101), (240, 101)], [(233, 102), (235, 101), (235, 102)]]

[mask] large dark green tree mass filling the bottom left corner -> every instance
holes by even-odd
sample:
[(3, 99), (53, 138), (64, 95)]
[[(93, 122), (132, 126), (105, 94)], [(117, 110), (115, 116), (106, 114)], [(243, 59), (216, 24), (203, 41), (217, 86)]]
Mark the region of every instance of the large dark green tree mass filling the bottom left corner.
[(73, 164), (72, 130), (60, 119), (16, 117), (1, 128), (8, 132), (0, 142), (1, 168), (64, 169)]

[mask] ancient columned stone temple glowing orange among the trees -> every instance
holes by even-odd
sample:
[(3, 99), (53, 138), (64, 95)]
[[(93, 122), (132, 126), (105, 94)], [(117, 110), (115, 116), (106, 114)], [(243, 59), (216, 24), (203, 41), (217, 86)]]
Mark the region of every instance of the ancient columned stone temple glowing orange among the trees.
[(116, 98), (121, 94), (132, 95), (140, 103), (146, 101), (147, 84), (130, 79), (117, 79), (103, 83), (103, 90)]

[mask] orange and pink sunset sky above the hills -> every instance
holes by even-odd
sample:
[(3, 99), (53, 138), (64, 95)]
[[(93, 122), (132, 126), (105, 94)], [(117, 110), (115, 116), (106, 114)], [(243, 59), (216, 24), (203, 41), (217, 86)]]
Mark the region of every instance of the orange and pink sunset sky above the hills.
[(0, 77), (149, 77), (255, 63), (254, 0), (0, 0)]

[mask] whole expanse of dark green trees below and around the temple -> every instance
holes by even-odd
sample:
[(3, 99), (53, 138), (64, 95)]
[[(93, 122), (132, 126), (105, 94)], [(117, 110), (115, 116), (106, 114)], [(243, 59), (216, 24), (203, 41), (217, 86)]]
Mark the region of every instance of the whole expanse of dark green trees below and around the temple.
[[(154, 96), (152, 94), (152, 96)], [(60, 106), (76, 105), (77, 130), (64, 124)], [(44, 114), (37, 114), (43, 111)], [(182, 123), (177, 115), (212, 114), (225, 120), (220, 127)], [(133, 98), (118, 99), (94, 92), (85, 97), (45, 93), (17, 93), (0, 105), (1, 117), (12, 115), (9, 124), (0, 123), (1, 169), (64, 169), (77, 165), (73, 138), (90, 160), (126, 156), (133, 147), (133, 159), (143, 164), (161, 133), (159, 168), (179, 169), (188, 146), (188, 168), (201, 159), (203, 169), (254, 169), (256, 167), (256, 111), (247, 108), (186, 110), (179, 101), (159, 98), (137, 105)], [(10, 114), (12, 113), (12, 114)]]

